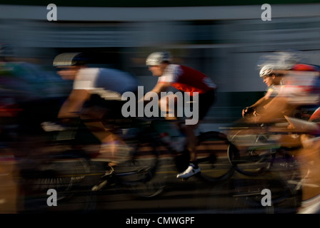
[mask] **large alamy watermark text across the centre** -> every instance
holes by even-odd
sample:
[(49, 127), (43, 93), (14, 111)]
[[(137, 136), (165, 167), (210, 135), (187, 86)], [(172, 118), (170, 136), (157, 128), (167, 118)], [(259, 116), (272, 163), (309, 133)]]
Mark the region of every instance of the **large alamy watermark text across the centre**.
[[(144, 87), (138, 86), (138, 99), (133, 92), (125, 92), (121, 100), (127, 100), (121, 108), (124, 117), (186, 117), (186, 125), (195, 125), (199, 121), (199, 93), (193, 92), (192, 101), (189, 92), (161, 92), (160, 99), (158, 93), (150, 91), (144, 95)], [(129, 99), (129, 100), (128, 100)], [(144, 105), (143, 101), (149, 100)], [(165, 102), (164, 102), (165, 101)], [(159, 105), (160, 104), (160, 105)], [(159, 112), (160, 106), (160, 112)], [(184, 108), (178, 108), (184, 107)], [(170, 110), (169, 113), (166, 110)]]

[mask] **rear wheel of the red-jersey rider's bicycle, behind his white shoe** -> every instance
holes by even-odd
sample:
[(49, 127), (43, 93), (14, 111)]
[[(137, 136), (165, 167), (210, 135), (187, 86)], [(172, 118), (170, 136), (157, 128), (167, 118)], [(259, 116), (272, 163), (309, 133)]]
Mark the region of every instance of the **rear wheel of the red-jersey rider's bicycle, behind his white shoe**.
[(199, 177), (209, 182), (224, 182), (234, 174), (234, 165), (227, 156), (231, 145), (226, 135), (219, 132), (201, 133), (198, 136), (196, 156), (201, 170)]

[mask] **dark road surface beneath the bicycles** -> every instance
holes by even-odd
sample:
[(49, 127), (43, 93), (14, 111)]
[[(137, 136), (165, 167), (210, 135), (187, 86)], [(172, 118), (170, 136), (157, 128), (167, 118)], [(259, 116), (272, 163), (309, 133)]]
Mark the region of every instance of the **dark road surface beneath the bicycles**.
[[(294, 214), (299, 207), (299, 192), (287, 188), (291, 187), (285, 179), (287, 176), (280, 177), (279, 172), (259, 177), (246, 177), (235, 172), (226, 182), (215, 184), (197, 177), (176, 180), (176, 171), (171, 168), (158, 177), (166, 176), (166, 187), (157, 197), (141, 199), (128, 188), (115, 184), (99, 192), (91, 192), (91, 187), (99, 182), (99, 175), (91, 173), (81, 182), (81, 187), (74, 190), (74, 195), (58, 200), (56, 206), (47, 205), (49, 195), (36, 199), (25, 195), (21, 199), (23, 207), (19, 213), (103, 213), (105, 216), (109, 213)], [(271, 192), (271, 206), (261, 204), (264, 197), (261, 191), (264, 189)]]

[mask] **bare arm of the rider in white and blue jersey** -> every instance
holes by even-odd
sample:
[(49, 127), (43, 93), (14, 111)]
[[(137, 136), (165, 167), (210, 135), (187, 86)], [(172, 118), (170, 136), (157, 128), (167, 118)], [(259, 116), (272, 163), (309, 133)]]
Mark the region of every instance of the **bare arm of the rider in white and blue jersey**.
[(58, 118), (75, 118), (79, 116), (82, 105), (90, 97), (89, 90), (72, 90), (69, 98), (61, 106)]

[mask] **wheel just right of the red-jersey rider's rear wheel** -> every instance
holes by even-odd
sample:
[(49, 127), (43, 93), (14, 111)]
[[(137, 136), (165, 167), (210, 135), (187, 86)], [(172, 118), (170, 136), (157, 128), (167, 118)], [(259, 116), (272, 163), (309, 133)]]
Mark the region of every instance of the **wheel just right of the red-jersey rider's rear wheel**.
[[(268, 142), (267, 135), (234, 135), (228, 157), (236, 171), (248, 176), (261, 175), (271, 168), (278, 145)], [(234, 146), (236, 145), (236, 146)]]

